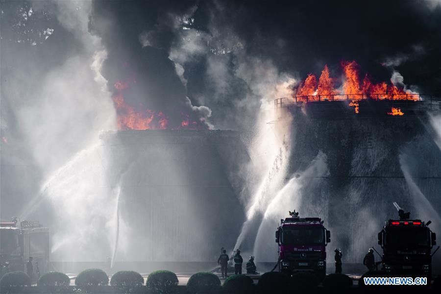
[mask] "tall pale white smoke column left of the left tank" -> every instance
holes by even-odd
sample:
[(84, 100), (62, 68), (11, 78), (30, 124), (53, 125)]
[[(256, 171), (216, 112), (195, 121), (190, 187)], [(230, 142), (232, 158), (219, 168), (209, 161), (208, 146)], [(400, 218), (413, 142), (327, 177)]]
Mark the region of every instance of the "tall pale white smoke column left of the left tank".
[[(116, 205), (106, 182), (108, 158), (98, 139), (102, 130), (116, 129), (111, 94), (100, 74), (107, 52), (88, 31), (90, 1), (31, 4), (34, 9), (28, 18), (41, 11), (51, 15), (69, 33), (75, 49), (47, 70), (41, 70), (48, 67), (25, 51), (10, 56), (27, 66), (13, 71), (5, 98), (43, 178), (40, 193), (29, 199), (20, 217), (44, 211), (39, 205), (48, 200), (57, 220), (45, 223), (51, 228), (51, 259), (103, 260), (114, 241), (113, 216), (108, 212)], [(62, 40), (60, 33), (50, 29), (50, 38)], [(65, 53), (49, 41), (30, 46), (43, 45), (54, 55)]]

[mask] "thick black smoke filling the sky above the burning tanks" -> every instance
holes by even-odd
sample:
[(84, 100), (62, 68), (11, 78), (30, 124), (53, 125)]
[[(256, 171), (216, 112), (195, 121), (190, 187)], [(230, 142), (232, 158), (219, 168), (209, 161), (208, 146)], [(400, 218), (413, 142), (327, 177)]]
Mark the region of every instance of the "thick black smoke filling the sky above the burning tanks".
[[(212, 110), (205, 119), (217, 128), (252, 127), (262, 97), (240, 71), (260, 61), (301, 79), (325, 64), (339, 76), (342, 60), (356, 60), (374, 81), (397, 71), (420, 93), (441, 92), (436, 1), (95, 1), (90, 28), (108, 50), (110, 87), (135, 74), (129, 103), (164, 111), (175, 123), (183, 109), (203, 117), (187, 96)], [(172, 55), (185, 50), (183, 38), (200, 43), (181, 62)]]

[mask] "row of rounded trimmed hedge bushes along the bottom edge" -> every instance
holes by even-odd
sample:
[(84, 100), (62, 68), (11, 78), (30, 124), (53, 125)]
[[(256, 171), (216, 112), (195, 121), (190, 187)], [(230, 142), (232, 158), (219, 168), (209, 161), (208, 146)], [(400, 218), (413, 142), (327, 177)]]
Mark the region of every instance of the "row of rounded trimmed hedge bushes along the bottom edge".
[[(363, 275), (375, 276), (381, 272), (369, 272)], [(359, 286), (364, 286), (363, 277), (359, 281)], [(434, 283), (434, 288), (439, 287), (439, 278)], [(308, 272), (299, 272), (289, 277), (281, 272), (264, 273), (257, 286), (253, 284), (253, 280), (247, 275), (231, 275), (223, 285), (219, 277), (213, 273), (198, 272), (192, 275), (187, 282), (186, 291), (190, 294), (200, 293), (229, 293), (229, 294), (247, 294), (247, 293), (277, 293), (284, 292), (286, 289), (310, 290), (316, 288), (320, 281), (317, 277)], [(15, 271), (5, 274), (0, 280), (2, 289), (5, 287), (17, 288), (30, 284), (29, 276), (22, 271)], [(85, 292), (96, 292), (109, 284), (107, 274), (99, 269), (89, 269), (80, 272), (76, 279), (76, 289)], [(50, 292), (71, 293), (68, 289), (70, 285), (69, 277), (61, 272), (49, 272), (40, 277), (37, 285), (39, 287), (50, 287)], [(110, 285), (123, 293), (182, 293), (182, 287), (178, 291), (178, 279), (176, 274), (168, 270), (158, 270), (150, 273), (147, 277), (146, 287), (144, 286), (144, 278), (135, 271), (119, 271), (110, 279)], [(326, 289), (342, 289), (352, 286), (352, 279), (344, 274), (329, 274), (322, 281), (322, 285)], [(98, 287), (98, 288), (97, 288)], [(101, 288), (99, 288), (101, 287)], [(11, 289), (12, 289), (11, 288)], [(64, 289), (64, 290), (63, 290)], [(110, 289), (107, 289), (108, 292)], [(12, 293), (13, 291), (7, 291)], [(2, 292), (3, 293), (3, 292)]]

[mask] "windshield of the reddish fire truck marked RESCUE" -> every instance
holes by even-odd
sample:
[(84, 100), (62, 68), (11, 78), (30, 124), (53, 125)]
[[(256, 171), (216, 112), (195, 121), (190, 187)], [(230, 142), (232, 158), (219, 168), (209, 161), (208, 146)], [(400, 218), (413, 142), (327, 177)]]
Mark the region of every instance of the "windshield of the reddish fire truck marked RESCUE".
[(284, 245), (321, 245), (324, 242), (324, 230), (315, 228), (290, 228), (282, 230), (282, 244)]

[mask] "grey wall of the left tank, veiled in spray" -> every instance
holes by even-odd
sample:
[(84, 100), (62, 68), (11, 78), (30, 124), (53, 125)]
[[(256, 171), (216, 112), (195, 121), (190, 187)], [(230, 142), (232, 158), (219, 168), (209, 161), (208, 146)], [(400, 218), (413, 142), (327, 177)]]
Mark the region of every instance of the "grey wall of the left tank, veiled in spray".
[(109, 183), (121, 183), (116, 261), (212, 261), (243, 222), (238, 172), (249, 160), (235, 131), (107, 132)]

